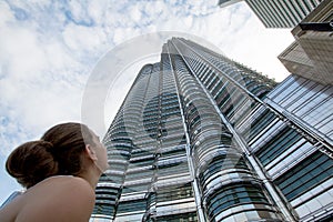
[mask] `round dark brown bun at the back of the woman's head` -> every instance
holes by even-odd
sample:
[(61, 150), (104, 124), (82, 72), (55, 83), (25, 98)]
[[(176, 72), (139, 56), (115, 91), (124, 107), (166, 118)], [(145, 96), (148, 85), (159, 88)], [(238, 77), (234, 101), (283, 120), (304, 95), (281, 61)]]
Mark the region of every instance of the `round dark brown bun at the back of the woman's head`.
[(42, 140), (23, 143), (9, 155), (6, 169), (20, 184), (30, 188), (58, 173), (52, 149), (52, 143)]

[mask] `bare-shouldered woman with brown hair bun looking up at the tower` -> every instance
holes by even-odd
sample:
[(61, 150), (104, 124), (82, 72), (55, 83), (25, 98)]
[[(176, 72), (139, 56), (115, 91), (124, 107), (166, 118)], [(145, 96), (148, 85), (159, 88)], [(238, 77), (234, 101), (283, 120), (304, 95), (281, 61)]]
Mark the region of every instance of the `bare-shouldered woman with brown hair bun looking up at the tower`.
[(63, 123), (18, 147), (6, 169), (27, 191), (0, 210), (1, 222), (89, 221), (107, 150), (87, 125)]

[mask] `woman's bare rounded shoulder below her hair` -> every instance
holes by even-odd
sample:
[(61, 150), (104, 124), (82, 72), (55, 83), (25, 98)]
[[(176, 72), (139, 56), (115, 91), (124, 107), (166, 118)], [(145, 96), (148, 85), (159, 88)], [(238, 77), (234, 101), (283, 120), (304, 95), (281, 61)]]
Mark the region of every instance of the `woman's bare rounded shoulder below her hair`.
[(75, 176), (52, 176), (26, 194), (18, 221), (88, 221), (94, 205), (93, 189)]

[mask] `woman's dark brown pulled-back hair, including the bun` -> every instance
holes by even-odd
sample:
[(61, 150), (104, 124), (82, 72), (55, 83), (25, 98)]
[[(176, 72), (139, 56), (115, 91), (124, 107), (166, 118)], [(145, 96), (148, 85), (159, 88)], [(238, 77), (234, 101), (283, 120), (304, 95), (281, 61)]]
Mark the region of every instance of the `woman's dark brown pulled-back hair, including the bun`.
[(87, 125), (58, 124), (48, 130), (41, 140), (18, 147), (9, 155), (6, 169), (26, 188), (52, 175), (78, 175), (82, 171), (85, 143), (93, 144)]

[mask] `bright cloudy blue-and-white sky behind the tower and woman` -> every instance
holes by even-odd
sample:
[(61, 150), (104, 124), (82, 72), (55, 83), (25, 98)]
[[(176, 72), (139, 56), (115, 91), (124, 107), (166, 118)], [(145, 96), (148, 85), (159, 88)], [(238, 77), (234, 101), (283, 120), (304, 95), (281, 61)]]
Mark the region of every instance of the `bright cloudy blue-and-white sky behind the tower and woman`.
[[(108, 70), (112, 82), (99, 108), (104, 129), (140, 68), (159, 61), (158, 53), (140, 56), (152, 43), (143, 36), (198, 37), (280, 82), (289, 73), (276, 57), (294, 40), (290, 31), (265, 29), (244, 2), (219, 8), (218, 0), (0, 0), (0, 204), (21, 190), (4, 170), (9, 153), (57, 123), (82, 122), (89, 81), (121, 47), (129, 49), (123, 54), (139, 56), (117, 73)], [(133, 49), (133, 39), (141, 49)]]

